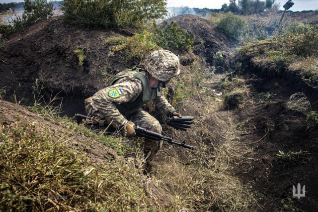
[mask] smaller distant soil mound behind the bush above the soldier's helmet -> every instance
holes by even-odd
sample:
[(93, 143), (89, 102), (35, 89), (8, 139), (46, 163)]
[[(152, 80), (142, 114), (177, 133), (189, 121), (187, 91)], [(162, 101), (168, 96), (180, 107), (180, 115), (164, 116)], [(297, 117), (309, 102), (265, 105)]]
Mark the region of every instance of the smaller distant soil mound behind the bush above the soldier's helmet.
[[(195, 36), (194, 45), (200, 46), (194, 53), (213, 66), (215, 64), (215, 53), (219, 51), (230, 52), (235, 49), (235, 43), (229, 40), (217, 25), (200, 18), (197, 15), (178, 15), (167, 19), (168, 22), (175, 21), (180, 28)], [(202, 41), (204, 42), (201, 45)]]

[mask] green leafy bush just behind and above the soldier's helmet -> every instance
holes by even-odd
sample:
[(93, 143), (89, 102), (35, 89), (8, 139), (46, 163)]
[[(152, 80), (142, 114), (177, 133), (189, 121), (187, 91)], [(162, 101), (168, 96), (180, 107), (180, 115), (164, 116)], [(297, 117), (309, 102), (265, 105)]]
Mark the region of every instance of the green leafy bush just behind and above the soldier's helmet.
[(164, 21), (161, 26), (155, 27), (155, 42), (163, 49), (191, 51), (194, 38), (184, 29), (178, 28), (176, 22)]

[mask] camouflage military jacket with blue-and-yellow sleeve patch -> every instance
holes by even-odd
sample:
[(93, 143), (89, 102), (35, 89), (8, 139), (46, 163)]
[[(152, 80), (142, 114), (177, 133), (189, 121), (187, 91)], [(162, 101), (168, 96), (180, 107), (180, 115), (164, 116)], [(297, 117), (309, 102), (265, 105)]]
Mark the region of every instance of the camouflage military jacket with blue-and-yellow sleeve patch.
[(150, 88), (149, 74), (134, 67), (118, 73), (105, 89), (92, 97), (92, 102), (113, 126), (119, 127), (126, 122), (127, 116), (152, 100), (161, 112), (174, 110), (161, 91), (162, 88)]

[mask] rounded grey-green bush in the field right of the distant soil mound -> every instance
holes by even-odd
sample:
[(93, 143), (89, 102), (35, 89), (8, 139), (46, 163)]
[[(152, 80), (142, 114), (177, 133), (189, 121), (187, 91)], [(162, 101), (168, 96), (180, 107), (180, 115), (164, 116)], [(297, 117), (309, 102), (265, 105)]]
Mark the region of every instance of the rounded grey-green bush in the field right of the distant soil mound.
[(243, 34), (246, 22), (238, 15), (228, 13), (219, 22), (218, 28), (228, 37), (239, 38)]

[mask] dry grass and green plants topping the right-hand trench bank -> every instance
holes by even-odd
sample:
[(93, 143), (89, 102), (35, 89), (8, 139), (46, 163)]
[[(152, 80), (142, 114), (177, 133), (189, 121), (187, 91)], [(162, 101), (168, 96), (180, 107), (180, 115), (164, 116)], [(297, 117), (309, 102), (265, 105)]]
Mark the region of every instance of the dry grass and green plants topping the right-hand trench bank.
[(318, 25), (294, 22), (273, 39), (243, 46), (237, 53), (241, 70), (250, 62), (264, 73), (294, 72), (304, 82), (318, 88)]

